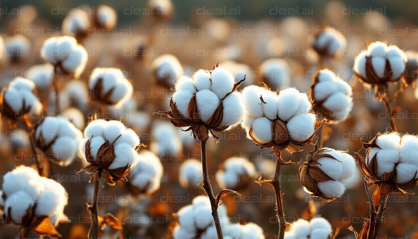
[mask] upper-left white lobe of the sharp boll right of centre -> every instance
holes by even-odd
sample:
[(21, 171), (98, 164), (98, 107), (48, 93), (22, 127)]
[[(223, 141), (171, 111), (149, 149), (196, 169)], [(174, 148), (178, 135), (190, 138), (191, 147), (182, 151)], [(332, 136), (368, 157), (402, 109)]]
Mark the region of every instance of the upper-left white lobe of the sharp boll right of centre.
[(260, 96), (263, 93), (263, 88), (250, 85), (242, 90), (242, 98), (247, 107), (247, 115), (252, 118), (259, 118), (263, 116), (263, 107), (261, 105)]

